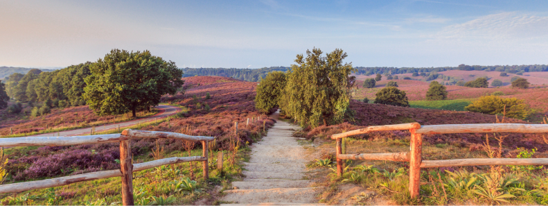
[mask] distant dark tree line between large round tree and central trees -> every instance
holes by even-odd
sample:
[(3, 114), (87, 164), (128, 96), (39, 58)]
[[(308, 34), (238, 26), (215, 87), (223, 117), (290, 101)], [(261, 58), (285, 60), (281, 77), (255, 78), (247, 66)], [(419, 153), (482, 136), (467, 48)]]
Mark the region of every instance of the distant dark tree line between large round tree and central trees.
[(263, 67), (260, 69), (236, 69), (236, 68), (184, 68), (184, 77), (188, 76), (224, 76), (258, 82), (265, 78), (270, 71), (288, 71), (290, 67)]

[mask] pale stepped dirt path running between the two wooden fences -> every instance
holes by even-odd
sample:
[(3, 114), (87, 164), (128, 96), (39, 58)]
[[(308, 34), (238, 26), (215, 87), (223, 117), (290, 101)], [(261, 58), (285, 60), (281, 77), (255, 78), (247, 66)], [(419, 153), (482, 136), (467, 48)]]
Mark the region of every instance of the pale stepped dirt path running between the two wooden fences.
[[(268, 130), (262, 141), (251, 146), (251, 160), (245, 163), (246, 178), (232, 182), (235, 189), (224, 191), (223, 201), (238, 205), (313, 205), (318, 188), (305, 180), (308, 160), (303, 146), (292, 137), (298, 126), (279, 120)], [(229, 204), (226, 204), (229, 205)]]

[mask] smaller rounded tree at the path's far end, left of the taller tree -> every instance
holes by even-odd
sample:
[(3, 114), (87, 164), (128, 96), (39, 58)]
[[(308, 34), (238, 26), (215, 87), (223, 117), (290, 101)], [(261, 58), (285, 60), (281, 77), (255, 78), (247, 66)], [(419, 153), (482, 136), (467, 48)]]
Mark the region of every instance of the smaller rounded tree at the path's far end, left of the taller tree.
[[(272, 108), (279, 107), (283, 89), (285, 89), (285, 73), (271, 71), (260, 80), (255, 96), (255, 108), (263, 113), (268, 113)], [(209, 94), (209, 93), (208, 93)]]

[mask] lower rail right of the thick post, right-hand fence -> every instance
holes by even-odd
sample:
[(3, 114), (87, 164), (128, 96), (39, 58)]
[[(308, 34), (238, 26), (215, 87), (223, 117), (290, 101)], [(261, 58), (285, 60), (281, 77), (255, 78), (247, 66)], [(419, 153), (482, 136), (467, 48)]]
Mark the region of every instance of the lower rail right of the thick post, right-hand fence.
[(476, 165), (547, 165), (548, 158), (471, 158), (455, 160), (423, 160), (422, 168)]

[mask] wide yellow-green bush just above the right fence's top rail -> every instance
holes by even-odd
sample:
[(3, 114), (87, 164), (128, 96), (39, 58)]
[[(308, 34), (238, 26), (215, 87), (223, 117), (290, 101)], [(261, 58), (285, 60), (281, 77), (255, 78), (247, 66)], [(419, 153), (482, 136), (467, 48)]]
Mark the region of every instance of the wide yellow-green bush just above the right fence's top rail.
[[(506, 109), (505, 109), (506, 106)], [(500, 96), (481, 96), (464, 110), (483, 114), (502, 114), (506, 110), (506, 117), (525, 119), (529, 115), (529, 105), (518, 98), (501, 98)]]

